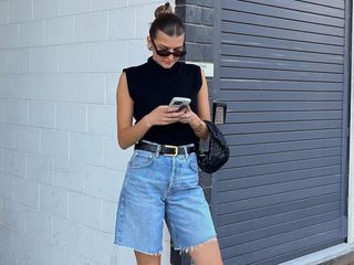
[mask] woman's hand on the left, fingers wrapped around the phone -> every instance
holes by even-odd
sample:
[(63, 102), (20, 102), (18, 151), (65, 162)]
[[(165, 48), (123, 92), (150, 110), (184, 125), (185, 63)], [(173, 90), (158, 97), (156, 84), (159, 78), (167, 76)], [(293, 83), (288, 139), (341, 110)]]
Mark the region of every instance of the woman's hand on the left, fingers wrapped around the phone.
[(158, 106), (144, 118), (149, 127), (154, 125), (168, 125), (180, 120), (184, 112), (177, 112), (178, 107)]

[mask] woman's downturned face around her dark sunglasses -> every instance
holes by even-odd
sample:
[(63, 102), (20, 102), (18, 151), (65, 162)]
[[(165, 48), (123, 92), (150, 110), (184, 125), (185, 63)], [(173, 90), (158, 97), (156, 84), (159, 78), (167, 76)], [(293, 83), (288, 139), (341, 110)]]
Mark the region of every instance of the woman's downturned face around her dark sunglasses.
[[(170, 68), (178, 61), (178, 56), (169, 54), (168, 56), (160, 56), (156, 53), (157, 50), (183, 50), (185, 42), (185, 34), (179, 36), (169, 36), (162, 31), (157, 31), (156, 39), (152, 40), (150, 36), (147, 36), (147, 42), (152, 46), (153, 59), (162, 65), (164, 68)], [(155, 44), (155, 45), (154, 45)]]

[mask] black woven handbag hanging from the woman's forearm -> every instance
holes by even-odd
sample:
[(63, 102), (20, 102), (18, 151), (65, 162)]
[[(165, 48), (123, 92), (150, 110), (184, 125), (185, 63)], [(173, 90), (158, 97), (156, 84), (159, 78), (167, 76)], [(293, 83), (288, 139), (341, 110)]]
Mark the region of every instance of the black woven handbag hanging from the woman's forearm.
[(197, 161), (204, 172), (214, 173), (229, 160), (230, 149), (219, 128), (209, 120), (204, 121), (209, 129), (209, 148), (207, 151), (202, 151), (198, 145)]

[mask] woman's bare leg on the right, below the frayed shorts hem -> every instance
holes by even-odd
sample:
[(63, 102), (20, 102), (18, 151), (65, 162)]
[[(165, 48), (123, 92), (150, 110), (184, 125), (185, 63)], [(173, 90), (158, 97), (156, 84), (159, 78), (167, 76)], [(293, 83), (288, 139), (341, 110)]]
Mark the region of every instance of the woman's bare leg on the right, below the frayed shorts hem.
[(211, 241), (189, 252), (196, 265), (222, 265), (218, 241)]

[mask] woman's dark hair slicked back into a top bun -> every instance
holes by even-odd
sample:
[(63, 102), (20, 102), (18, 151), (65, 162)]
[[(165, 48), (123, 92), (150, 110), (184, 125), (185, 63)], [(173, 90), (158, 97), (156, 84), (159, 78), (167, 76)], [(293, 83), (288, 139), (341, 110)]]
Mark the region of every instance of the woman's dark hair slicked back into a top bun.
[(156, 39), (157, 31), (160, 30), (169, 36), (180, 36), (185, 33), (185, 25), (177, 14), (174, 13), (169, 2), (159, 6), (155, 10), (155, 20), (150, 25), (149, 34)]

